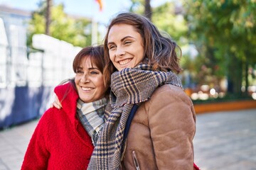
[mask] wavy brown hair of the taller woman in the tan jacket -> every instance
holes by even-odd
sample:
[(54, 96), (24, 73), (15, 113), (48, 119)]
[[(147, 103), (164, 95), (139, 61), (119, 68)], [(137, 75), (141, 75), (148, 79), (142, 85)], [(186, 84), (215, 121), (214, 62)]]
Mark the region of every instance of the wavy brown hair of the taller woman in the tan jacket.
[(106, 62), (104, 78), (107, 84), (110, 84), (110, 75), (117, 70), (110, 60), (109, 49), (107, 47), (108, 35), (112, 26), (120, 23), (133, 26), (134, 29), (142, 35), (144, 42), (143, 63), (151, 64), (154, 71), (161, 70), (166, 72), (171, 70), (176, 73), (181, 72), (181, 67), (178, 64), (178, 56), (176, 54), (176, 49), (178, 49), (181, 54), (181, 48), (176, 45), (176, 42), (171, 40), (170, 37), (161, 35), (156, 26), (146, 17), (136, 13), (119, 13), (110, 21), (104, 41), (104, 57)]

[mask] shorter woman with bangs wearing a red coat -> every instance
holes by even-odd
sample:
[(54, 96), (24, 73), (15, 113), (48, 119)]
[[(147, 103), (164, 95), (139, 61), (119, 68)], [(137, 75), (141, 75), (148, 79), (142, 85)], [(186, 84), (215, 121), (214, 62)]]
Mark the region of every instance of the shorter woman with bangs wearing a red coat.
[(21, 169), (87, 169), (104, 125), (108, 91), (103, 47), (85, 47), (73, 61), (75, 79), (55, 87), (63, 109), (43, 114)]

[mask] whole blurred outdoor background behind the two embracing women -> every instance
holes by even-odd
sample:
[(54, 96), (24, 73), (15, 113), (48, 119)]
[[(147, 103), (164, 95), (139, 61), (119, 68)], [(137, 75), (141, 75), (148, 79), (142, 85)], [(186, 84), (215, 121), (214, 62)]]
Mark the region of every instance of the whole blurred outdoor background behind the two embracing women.
[(181, 47), (203, 170), (256, 167), (256, 0), (0, 0), (0, 169), (20, 169), (53, 88), (110, 19), (149, 18)]

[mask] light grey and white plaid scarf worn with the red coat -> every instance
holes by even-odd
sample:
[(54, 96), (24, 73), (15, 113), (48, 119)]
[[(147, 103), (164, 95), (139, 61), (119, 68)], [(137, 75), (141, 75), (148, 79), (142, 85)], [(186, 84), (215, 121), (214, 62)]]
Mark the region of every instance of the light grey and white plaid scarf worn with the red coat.
[(104, 111), (107, 105), (107, 98), (102, 98), (98, 101), (84, 103), (78, 99), (77, 115), (85, 128), (86, 132), (92, 137), (92, 144), (95, 145), (99, 137), (100, 130), (105, 125)]

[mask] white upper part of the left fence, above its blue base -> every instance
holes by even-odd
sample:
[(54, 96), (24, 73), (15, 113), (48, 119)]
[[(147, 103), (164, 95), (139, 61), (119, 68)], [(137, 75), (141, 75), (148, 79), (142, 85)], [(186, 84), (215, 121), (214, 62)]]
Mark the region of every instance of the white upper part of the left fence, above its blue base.
[(74, 76), (72, 62), (80, 47), (47, 35), (33, 39), (37, 49), (0, 44), (0, 88), (55, 86)]

